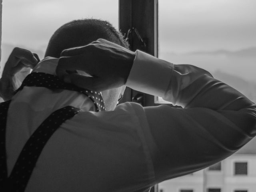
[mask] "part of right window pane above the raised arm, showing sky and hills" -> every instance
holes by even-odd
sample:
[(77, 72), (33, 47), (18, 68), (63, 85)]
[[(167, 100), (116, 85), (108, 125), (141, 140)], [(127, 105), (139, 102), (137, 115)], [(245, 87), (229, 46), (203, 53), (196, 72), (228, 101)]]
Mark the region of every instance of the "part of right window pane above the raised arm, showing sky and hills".
[(159, 0), (159, 58), (204, 68), (256, 102), (255, 7), (254, 0)]

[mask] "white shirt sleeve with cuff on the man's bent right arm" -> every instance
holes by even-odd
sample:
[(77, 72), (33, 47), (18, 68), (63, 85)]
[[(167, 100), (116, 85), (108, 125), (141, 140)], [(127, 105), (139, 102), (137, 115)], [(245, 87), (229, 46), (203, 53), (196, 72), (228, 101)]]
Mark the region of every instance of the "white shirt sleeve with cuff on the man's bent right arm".
[(126, 86), (182, 106), (138, 112), (145, 114), (156, 144), (157, 182), (223, 160), (256, 135), (256, 105), (196, 66), (174, 65), (137, 51)]

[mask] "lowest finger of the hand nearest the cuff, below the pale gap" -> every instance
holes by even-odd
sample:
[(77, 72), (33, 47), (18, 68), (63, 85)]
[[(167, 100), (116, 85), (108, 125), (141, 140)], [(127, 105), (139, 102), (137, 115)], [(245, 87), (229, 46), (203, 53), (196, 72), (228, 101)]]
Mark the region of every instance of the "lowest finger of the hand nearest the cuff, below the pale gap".
[(74, 84), (81, 88), (94, 91), (103, 91), (106, 88), (98, 77), (88, 77), (80, 74), (68, 74), (63, 77), (64, 82)]

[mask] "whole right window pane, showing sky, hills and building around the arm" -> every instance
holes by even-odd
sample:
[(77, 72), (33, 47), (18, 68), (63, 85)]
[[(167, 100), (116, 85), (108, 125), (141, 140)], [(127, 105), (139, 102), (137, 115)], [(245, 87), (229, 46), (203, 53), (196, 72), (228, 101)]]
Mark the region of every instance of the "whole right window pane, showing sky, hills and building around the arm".
[[(158, 3), (159, 58), (204, 68), (256, 102), (256, 1), (159, 0)], [(155, 98), (155, 102), (163, 100)], [(159, 188), (178, 192), (193, 186), (191, 189), (196, 192), (206, 192), (212, 186), (222, 191), (244, 186), (254, 191), (256, 184), (250, 175), (256, 174), (254, 169), (248, 167), (248, 175), (240, 180), (234, 175), (234, 162), (243, 159), (256, 165), (255, 149), (256, 139), (253, 139), (222, 161), (222, 171), (206, 168), (162, 182)]]

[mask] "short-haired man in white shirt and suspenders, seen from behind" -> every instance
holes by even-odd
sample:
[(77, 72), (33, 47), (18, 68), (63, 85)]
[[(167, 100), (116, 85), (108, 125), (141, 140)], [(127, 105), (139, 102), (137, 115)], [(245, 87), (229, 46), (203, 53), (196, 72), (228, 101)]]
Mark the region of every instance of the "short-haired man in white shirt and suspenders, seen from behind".
[[(256, 105), (238, 91), (195, 66), (131, 52), (118, 42), (121, 36), (117, 40), (98, 35), (97, 24), (84, 23), (80, 36), (76, 25), (68, 24), (73, 30), (62, 38), (73, 42), (79, 37), (79, 42), (84, 37), (88, 42), (58, 49), (59, 43), (50, 46), (51, 39), (46, 56), (60, 59), (45, 58), (33, 72), (56, 71), (65, 82), (102, 92), (107, 111), (94, 112), (87, 96), (64, 88), (19, 90), (8, 110), (8, 175), (26, 141), (49, 114), (68, 105), (82, 110), (48, 140), (26, 191), (146, 191), (230, 156), (255, 136)], [(30, 64), (36, 62), (31, 55), (25, 59)], [(182, 108), (143, 108), (129, 102), (116, 107), (124, 86)]]

